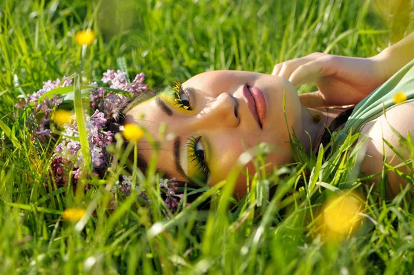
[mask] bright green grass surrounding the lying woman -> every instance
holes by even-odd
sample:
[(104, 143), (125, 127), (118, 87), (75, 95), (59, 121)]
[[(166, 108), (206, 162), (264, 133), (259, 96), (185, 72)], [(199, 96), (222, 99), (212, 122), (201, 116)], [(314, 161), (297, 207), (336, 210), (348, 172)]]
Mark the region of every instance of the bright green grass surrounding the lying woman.
[[(141, 205), (135, 196), (117, 198), (111, 210), (106, 184), (113, 184), (115, 176), (90, 182), (96, 188), (85, 194), (46, 192), (51, 148), (32, 143), (13, 116), (17, 98), (39, 90), (43, 81), (74, 72), (95, 80), (117, 68), (118, 57), (126, 59), (130, 75), (145, 72), (150, 88), (206, 70), (270, 73), (280, 61), (315, 51), (369, 57), (409, 26), (407, 17), (375, 13), (384, 2), (3, 0), (2, 274), (411, 273), (414, 212), (411, 198), (404, 196), (407, 190), (387, 200), (381, 190), (350, 179), (355, 158), (341, 151), (258, 173), (256, 188), (238, 202), (230, 196), (235, 176), (230, 174), (223, 190), (209, 189), (175, 214), (159, 198), (155, 155), (144, 183), (150, 203)], [(81, 59), (73, 36), (85, 28), (95, 30), (97, 40)], [(350, 145), (351, 140), (342, 152)], [(260, 153), (257, 165), (263, 164)], [(279, 187), (269, 198), (273, 185)], [(317, 209), (326, 198), (350, 189), (364, 194), (362, 225), (340, 243), (324, 241), (317, 236)], [(206, 200), (210, 208), (200, 210)], [(63, 221), (68, 207), (83, 207), (87, 215), (77, 224)]]

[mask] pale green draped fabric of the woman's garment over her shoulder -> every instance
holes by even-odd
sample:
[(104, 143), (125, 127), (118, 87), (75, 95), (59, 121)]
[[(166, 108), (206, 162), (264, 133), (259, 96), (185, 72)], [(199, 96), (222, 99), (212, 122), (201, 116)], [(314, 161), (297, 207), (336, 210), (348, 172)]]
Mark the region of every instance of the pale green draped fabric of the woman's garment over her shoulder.
[(407, 97), (404, 103), (414, 101), (414, 59), (355, 106), (344, 128), (335, 136), (335, 143), (342, 144), (349, 133), (359, 132), (365, 123), (396, 106), (393, 97), (399, 92), (404, 92)]

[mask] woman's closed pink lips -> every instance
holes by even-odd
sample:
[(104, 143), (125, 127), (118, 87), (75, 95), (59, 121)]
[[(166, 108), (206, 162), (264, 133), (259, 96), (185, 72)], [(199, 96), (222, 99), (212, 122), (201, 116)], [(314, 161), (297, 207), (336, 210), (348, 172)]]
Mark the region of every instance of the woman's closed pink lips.
[(259, 124), (259, 127), (263, 129), (263, 125), (266, 121), (266, 99), (262, 90), (257, 87), (249, 87), (244, 85), (243, 94), (247, 99), (248, 110), (253, 115), (253, 118)]

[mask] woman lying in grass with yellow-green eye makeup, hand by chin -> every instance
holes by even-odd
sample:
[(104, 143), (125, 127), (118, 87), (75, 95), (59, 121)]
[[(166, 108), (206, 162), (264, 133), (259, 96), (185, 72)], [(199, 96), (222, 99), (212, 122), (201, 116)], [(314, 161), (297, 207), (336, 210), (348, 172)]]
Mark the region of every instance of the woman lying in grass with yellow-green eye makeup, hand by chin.
[[(407, 132), (414, 132), (414, 124), (409, 119), (414, 116), (414, 103), (410, 102), (411, 94), (414, 94), (413, 59), (414, 33), (411, 33), (399, 43), (367, 59), (314, 53), (275, 65), (272, 75), (238, 71), (204, 72), (182, 85), (177, 82), (175, 88), (149, 101), (130, 103), (121, 111), (125, 116), (122, 123), (137, 123), (153, 136), (157, 136), (160, 124), (166, 123), (171, 139), (161, 144), (158, 170), (179, 181), (214, 185), (224, 180), (239, 156), (257, 143), (266, 142), (275, 146), (266, 159), (270, 164), (268, 171), (275, 165), (294, 161), (288, 142), (293, 132), (306, 152), (317, 149), (322, 136), (326, 136), (326, 125), (337, 124), (335, 118), (339, 114), (362, 101), (408, 64), (404, 71), (398, 72), (378, 89), (382, 94), (380, 97), (376, 95), (376, 103), (368, 100), (368, 104), (373, 105), (362, 108), (362, 105), (357, 105), (347, 123), (350, 125), (346, 127), (346, 132), (359, 131), (369, 137), (366, 152), (362, 152), (365, 158), (360, 172), (378, 174), (383, 168), (383, 156), (386, 156), (386, 163), (392, 166), (403, 161), (390, 146), (382, 149), (383, 139), (399, 148), (395, 131), (404, 137)], [(298, 96), (295, 86), (304, 83), (315, 83), (319, 91)], [(378, 108), (382, 109), (385, 99), (389, 103), (392, 101), (390, 96), (402, 92), (398, 90), (400, 86), (406, 89), (403, 92), (408, 100), (400, 105), (388, 104), (385, 113), (377, 112)], [(375, 110), (371, 112), (371, 109)], [(351, 111), (343, 114), (342, 119), (349, 114)], [(150, 157), (149, 151), (144, 150), (148, 147), (146, 139), (139, 141), (141, 163)], [(252, 163), (246, 168), (250, 175), (255, 171)], [(411, 174), (404, 165), (397, 169)], [(407, 183), (395, 172), (387, 172), (386, 176), (388, 196), (395, 196)], [(374, 182), (379, 181), (379, 177)], [(239, 176), (235, 192), (239, 195), (246, 193), (246, 173)]]

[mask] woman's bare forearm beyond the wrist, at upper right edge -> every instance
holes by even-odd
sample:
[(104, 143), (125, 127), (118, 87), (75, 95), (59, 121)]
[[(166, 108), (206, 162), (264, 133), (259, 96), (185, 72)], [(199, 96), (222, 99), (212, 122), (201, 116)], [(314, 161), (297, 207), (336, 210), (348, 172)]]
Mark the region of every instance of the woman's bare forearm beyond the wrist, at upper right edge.
[(379, 61), (384, 80), (389, 79), (406, 63), (414, 59), (414, 32), (371, 59)]

